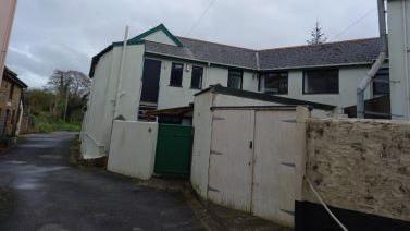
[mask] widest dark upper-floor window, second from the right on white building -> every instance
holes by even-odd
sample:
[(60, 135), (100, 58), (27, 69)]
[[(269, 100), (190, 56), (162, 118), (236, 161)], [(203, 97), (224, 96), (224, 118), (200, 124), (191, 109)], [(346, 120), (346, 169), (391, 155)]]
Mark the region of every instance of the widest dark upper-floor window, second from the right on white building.
[(310, 70), (303, 72), (303, 94), (338, 94), (339, 70)]

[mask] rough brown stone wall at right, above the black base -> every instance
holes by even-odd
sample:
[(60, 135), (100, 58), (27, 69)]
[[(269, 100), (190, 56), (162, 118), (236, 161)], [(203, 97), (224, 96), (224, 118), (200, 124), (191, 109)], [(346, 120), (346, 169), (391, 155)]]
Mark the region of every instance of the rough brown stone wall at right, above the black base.
[(410, 221), (410, 123), (310, 119), (306, 177), (330, 206)]

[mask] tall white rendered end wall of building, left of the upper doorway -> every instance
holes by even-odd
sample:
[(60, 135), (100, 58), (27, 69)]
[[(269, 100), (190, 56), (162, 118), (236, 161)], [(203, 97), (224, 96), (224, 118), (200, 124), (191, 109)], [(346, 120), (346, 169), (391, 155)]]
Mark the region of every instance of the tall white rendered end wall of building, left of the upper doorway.
[[(99, 158), (110, 150), (112, 121), (119, 84), (121, 47), (114, 47), (100, 58), (96, 66), (90, 99), (82, 136), (83, 157)], [(144, 45), (128, 46), (121, 84), (121, 97), (115, 117), (135, 120), (139, 105), (142, 76)]]

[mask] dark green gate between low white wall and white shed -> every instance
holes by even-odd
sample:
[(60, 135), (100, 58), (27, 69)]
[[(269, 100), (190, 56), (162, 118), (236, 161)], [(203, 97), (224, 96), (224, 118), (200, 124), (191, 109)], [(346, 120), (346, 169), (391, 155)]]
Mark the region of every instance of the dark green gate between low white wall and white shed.
[(192, 127), (159, 124), (154, 172), (189, 175)]

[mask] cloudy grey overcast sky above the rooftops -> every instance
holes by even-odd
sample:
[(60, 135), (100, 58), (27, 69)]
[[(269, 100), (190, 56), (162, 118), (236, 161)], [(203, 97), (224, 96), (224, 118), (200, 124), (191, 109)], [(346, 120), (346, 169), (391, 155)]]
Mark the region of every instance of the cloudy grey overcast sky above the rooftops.
[[(306, 44), (318, 20), (330, 40), (377, 36), (376, 0), (18, 0), (7, 64), (30, 87), (54, 69), (88, 74), (90, 60), (125, 25), (262, 49)], [(349, 25), (353, 25), (349, 27)], [(348, 29), (346, 29), (348, 28)]]

